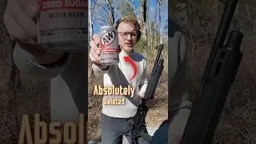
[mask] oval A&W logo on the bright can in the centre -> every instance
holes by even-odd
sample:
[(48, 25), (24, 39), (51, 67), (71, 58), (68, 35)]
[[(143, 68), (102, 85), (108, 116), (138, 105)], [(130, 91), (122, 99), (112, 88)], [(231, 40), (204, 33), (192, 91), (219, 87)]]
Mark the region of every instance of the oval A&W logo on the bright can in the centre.
[(108, 30), (105, 34), (102, 35), (100, 45), (102, 48), (110, 46), (116, 38), (116, 32), (114, 30)]

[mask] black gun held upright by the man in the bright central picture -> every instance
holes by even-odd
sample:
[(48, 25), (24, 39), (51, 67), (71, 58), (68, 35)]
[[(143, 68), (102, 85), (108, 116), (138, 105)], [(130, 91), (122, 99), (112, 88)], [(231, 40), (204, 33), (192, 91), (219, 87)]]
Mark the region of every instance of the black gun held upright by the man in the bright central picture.
[(146, 100), (154, 98), (154, 91), (158, 86), (158, 80), (162, 74), (163, 62), (164, 60), (160, 58), (162, 53), (163, 45), (158, 46), (158, 55), (154, 62), (154, 67), (150, 75), (149, 83), (146, 87), (145, 97), (142, 98), (142, 103), (138, 106), (137, 113), (133, 118), (133, 122), (130, 123), (130, 131), (131, 131), (131, 140), (132, 144), (138, 143), (138, 138), (142, 137), (146, 141), (151, 142), (152, 138), (149, 134), (146, 134), (146, 114), (148, 108), (146, 106)]

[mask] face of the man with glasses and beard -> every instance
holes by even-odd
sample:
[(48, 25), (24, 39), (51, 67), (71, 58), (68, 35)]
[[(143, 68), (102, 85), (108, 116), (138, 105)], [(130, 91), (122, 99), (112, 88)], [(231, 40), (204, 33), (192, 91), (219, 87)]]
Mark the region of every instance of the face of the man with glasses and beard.
[(122, 50), (126, 53), (132, 53), (134, 45), (137, 42), (137, 30), (134, 25), (121, 22), (118, 25), (118, 41)]

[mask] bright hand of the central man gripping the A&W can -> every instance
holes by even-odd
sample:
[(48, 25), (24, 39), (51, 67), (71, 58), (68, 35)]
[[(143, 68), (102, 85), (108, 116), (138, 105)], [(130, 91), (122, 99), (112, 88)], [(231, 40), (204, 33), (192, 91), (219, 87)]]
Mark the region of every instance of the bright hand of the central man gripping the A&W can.
[(96, 66), (98, 66), (99, 68), (102, 68), (103, 66), (102, 66), (102, 63), (100, 62), (101, 58), (99, 57), (99, 55), (101, 54), (101, 50), (98, 47), (98, 44), (99, 44), (98, 35), (94, 34), (93, 40), (90, 41), (89, 57), (91, 62), (94, 62)]

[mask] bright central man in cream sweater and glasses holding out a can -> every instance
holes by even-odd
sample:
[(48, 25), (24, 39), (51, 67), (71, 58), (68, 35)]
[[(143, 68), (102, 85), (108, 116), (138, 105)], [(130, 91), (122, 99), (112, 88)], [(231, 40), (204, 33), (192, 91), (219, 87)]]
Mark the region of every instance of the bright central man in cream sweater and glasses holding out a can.
[[(122, 136), (126, 135), (129, 142), (130, 139), (130, 119), (134, 117), (137, 111), (140, 98), (143, 97), (147, 81), (146, 81), (146, 60), (141, 54), (134, 51), (134, 45), (138, 42), (138, 34), (140, 26), (136, 18), (126, 16), (116, 23), (115, 28), (118, 31), (118, 41), (121, 47), (119, 53), (119, 62), (117, 65), (104, 66), (100, 62), (100, 49), (98, 48), (98, 36), (94, 35), (94, 40), (90, 42), (90, 60), (93, 62), (93, 70), (96, 74), (104, 74), (104, 87), (112, 86), (132, 86), (135, 88), (134, 97), (123, 95), (107, 95), (104, 98), (125, 98), (124, 105), (109, 106), (102, 105), (102, 142), (106, 144), (122, 143)], [(130, 62), (126, 62), (126, 58), (130, 58), (138, 69), (137, 75), (133, 78), (134, 70)], [(103, 98), (103, 99), (104, 99)], [(153, 106), (154, 99), (148, 100), (146, 105)], [(139, 139), (139, 142), (142, 138)]]

